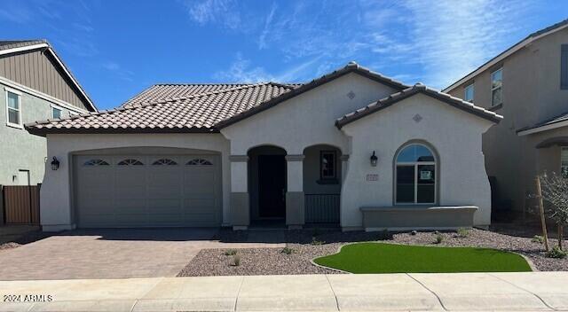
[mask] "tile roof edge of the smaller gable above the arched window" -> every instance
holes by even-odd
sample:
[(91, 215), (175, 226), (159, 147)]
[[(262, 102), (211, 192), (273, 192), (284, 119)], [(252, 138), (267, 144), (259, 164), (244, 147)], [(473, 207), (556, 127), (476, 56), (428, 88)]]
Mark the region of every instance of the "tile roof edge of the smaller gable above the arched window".
[(483, 107), (479, 107), (476, 105), (473, 105), (470, 102), (464, 101), (461, 98), (454, 98), (452, 96), (450, 96), (449, 94), (440, 92), (438, 90), (434, 90), (431, 88), (426, 87), (425, 85), (423, 85), (422, 83), (416, 83), (414, 84), (414, 86), (407, 88), (405, 90), (402, 90), (398, 93), (394, 93), (391, 94), (389, 97), (387, 98), (382, 98), (376, 102), (373, 102), (363, 108), (359, 108), (357, 111), (352, 112), (352, 113), (348, 113), (346, 115), (344, 115), (341, 118), (338, 118), (335, 121), (335, 126), (339, 129), (341, 129), (344, 125), (351, 123), (352, 121), (357, 121), (360, 118), (363, 118), (371, 113), (375, 113), (378, 112), (380, 110), (383, 110), (386, 107), (389, 107), (390, 105), (394, 105), (396, 103), (398, 103), (399, 101), (405, 99), (405, 98), (410, 98), (412, 96), (414, 96), (415, 94), (418, 93), (422, 93), (424, 95), (427, 95), (431, 98), (436, 98), (442, 102), (445, 102), (446, 104), (452, 105), (458, 109), (461, 109), (463, 111), (466, 111), (468, 113), (473, 113), (475, 115), (477, 115), (478, 117), (481, 118), (485, 118), (486, 120), (489, 121), (493, 121), (493, 122), (499, 122), (501, 121), (501, 119), (503, 119), (503, 117), (497, 113), (493, 113), (491, 111), (486, 110)]

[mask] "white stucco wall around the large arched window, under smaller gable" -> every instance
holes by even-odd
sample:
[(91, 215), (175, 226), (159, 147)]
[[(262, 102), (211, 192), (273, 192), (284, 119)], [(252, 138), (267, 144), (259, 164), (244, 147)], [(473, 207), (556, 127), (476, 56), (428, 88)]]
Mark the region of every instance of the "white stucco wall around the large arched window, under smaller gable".
[[(413, 120), (415, 114), (422, 116), (420, 122)], [(343, 127), (351, 137), (352, 150), (342, 187), (342, 226), (361, 227), (359, 207), (394, 204), (393, 159), (398, 148), (411, 140), (425, 141), (438, 153), (439, 205), (477, 206), (475, 224), (489, 224), (491, 191), (481, 135), (492, 124), (415, 95)], [(369, 163), (373, 151), (379, 158), (375, 168)], [(367, 174), (378, 174), (378, 181), (367, 181)]]

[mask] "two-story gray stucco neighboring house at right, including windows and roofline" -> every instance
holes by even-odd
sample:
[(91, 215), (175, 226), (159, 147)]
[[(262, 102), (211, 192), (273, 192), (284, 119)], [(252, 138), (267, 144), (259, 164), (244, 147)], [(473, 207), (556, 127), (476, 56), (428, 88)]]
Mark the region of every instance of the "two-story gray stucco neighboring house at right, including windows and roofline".
[(568, 175), (568, 20), (528, 35), (444, 91), (505, 118), (483, 137), (495, 212), (528, 211), (537, 174)]

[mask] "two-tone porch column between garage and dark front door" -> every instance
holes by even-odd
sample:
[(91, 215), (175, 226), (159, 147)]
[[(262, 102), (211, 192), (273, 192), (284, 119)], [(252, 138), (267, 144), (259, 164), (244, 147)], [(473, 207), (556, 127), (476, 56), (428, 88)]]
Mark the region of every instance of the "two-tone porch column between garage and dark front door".
[(248, 205), (248, 156), (231, 155), (231, 222), (233, 230), (247, 230), (250, 223)]

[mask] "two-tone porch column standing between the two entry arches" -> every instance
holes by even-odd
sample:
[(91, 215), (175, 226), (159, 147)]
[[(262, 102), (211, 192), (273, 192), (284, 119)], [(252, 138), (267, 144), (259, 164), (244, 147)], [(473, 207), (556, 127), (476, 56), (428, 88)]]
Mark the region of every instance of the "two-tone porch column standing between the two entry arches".
[(304, 226), (304, 155), (287, 155), (288, 188), (286, 192), (286, 225), (288, 229)]

